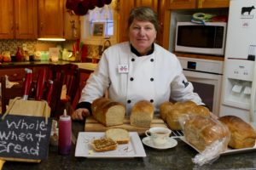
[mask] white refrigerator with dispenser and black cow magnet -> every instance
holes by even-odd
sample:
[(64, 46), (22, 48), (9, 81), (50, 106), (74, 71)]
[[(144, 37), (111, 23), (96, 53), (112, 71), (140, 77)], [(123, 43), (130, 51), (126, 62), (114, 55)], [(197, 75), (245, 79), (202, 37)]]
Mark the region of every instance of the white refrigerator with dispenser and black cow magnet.
[(256, 129), (256, 0), (230, 0), (219, 116), (234, 115)]

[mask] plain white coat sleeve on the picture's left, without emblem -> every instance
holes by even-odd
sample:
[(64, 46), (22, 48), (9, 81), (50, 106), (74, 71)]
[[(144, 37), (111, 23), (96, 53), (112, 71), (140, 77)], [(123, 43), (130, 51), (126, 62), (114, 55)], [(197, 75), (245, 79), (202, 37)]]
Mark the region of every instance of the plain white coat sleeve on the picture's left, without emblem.
[(90, 74), (81, 94), (80, 102), (92, 103), (94, 99), (102, 97), (109, 86), (108, 59), (106, 53), (98, 63), (96, 70)]

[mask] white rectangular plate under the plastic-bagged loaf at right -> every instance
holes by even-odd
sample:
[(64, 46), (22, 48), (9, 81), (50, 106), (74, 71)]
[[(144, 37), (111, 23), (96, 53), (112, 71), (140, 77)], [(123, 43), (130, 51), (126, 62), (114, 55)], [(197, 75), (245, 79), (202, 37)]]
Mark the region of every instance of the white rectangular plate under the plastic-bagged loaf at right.
[[(184, 143), (189, 144), (189, 142), (185, 139), (184, 136), (180, 137), (179, 139), (182, 139)], [(194, 148), (197, 152), (201, 153), (200, 150), (197, 150), (192, 144), (189, 144), (192, 148)], [(238, 154), (238, 153), (244, 153), (249, 151), (256, 151), (256, 144), (253, 146), (253, 148), (243, 148), (243, 149), (230, 149), (228, 148), (224, 152), (220, 153), (220, 155), (229, 155), (229, 154)]]

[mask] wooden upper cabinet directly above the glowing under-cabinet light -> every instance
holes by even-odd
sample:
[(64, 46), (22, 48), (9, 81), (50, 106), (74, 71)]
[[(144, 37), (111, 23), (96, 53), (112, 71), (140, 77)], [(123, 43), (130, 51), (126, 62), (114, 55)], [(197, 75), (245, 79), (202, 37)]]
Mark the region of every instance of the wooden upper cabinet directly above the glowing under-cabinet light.
[(79, 16), (66, 8), (67, 0), (38, 1), (38, 37), (66, 38), (80, 37)]

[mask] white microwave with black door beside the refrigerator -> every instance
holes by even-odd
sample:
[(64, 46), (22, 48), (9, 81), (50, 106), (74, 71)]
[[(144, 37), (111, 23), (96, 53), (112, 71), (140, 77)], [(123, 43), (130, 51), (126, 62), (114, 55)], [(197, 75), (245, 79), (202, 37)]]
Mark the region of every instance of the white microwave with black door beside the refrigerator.
[(224, 56), (226, 26), (225, 22), (177, 22), (175, 51)]

